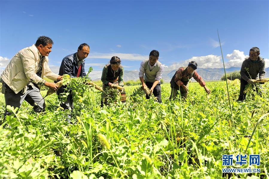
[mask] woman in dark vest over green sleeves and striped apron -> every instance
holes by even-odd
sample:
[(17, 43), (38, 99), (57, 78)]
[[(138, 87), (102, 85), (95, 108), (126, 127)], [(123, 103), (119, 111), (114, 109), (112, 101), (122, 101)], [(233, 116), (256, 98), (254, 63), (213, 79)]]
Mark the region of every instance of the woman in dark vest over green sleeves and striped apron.
[[(121, 66), (121, 60), (117, 56), (113, 56), (110, 59), (110, 64), (107, 64), (103, 68), (101, 81), (103, 82), (103, 90), (106, 90), (107, 87), (113, 88), (115, 85), (123, 87), (123, 67)], [(102, 94), (101, 107), (104, 104), (107, 104), (107, 94)], [(126, 101), (126, 95), (124, 88), (121, 91), (121, 102)]]

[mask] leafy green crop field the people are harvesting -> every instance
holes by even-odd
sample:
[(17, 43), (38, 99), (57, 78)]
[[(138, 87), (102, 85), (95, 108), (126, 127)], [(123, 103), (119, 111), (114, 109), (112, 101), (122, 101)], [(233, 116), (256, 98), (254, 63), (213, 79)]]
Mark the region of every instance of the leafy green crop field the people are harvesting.
[[(45, 98), (45, 112), (23, 102), (3, 121), (0, 94), (0, 178), (269, 178), (269, 83), (262, 97), (250, 90), (244, 102), (236, 102), (240, 86), (228, 84), (231, 108), (226, 82), (206, 86), (210, 95), (191, 82), (186, 101), (170, 102), (165, 83), (161, 104), (125, 86), (126, 104), (103, 108), (101, 92), (82, 86), (72, 124), (56, 94)], [(260, 154), (260, 165), (240, 166), (234, 157), (222, 166), (228, 154)], [(229, 167), (260, 172), (222, 173)]]

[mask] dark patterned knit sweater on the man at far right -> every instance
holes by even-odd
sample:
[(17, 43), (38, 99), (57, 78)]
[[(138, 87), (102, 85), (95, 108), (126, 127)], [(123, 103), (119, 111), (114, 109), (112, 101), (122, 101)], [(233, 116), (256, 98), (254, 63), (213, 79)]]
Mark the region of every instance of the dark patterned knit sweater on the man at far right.
[[(255, 62), (255, 63), (254, 63)], [(246, 58), (242, 63), (240, 75), (241, 79), (247, 81), (248, 79), (263, 79), (265, 76), (265, 61), (263, 58), (258, 56), (256, 61), (251, 60), (250, 58)]]

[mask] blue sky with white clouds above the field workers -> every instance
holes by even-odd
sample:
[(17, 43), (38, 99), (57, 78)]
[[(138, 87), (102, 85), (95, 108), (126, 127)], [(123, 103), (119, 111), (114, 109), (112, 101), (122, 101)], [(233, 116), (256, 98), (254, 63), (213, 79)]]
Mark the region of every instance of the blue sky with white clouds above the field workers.
[(124, 70), (139, 70), (153, 49), (165, 70), (192, 60), (198, 68), (221, 68), (217, 28), (227, 67), (241, 66), (253, 46), (268, 67), (268, 2), (1, 0), (1, 71), (41, 35), (54, 41), (54, 71), (81, 43), (91, 48), (86, 66), (94, 68), (94, 77), (115, 55)]

